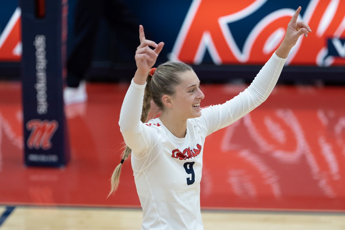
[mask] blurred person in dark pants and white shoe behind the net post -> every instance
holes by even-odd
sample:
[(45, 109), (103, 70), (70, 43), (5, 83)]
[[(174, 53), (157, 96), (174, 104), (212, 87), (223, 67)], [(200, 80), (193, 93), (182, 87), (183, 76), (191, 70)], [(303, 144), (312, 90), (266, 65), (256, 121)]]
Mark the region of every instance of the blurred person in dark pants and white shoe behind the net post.
[(88, 98), (85, 75), (91, 66), (102, 17), (114, 29), (121, 45), (131, 49), (137, 46), (138, 23), (124, 0), (77, 0), (74, 13), (73, 40), (67, 59), (67, 87), (63, 90), (66, 105), (82, 103)]

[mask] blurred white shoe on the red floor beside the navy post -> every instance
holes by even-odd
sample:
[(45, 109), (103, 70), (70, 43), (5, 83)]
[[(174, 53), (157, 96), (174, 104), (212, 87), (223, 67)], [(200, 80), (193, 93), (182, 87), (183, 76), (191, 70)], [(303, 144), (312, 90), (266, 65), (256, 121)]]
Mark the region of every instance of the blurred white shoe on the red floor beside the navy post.
[(81, 81), (77, 88), (66, 87), (63, 89), (63, 100), (65, 105), (83, 103), (87, 101), (86, 83)]

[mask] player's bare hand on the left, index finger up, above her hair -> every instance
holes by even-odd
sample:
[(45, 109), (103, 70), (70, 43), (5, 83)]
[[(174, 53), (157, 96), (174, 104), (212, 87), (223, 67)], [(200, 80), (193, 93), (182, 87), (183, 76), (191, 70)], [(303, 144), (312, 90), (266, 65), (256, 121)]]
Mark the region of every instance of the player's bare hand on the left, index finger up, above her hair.
[[(137, 73), (143, 77), (147, 77), (147, 74), (151, 67), (155, 64), (158, 54), (164, 46), (164, 42), (156, 44), (154, 41), (146, 40), (144, 34), (144, 27), (139, 26), (139, 39), (140, 45), (135, 52), (135, 61), (137, 64)], [(154, 47), (151, 49), (149, 46)]]

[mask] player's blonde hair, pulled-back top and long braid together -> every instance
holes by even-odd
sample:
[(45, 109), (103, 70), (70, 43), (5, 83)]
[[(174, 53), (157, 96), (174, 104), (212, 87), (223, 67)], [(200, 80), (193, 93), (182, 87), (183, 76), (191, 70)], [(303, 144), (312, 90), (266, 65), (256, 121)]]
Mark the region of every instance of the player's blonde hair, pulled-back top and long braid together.
[[(179, 77), (181, 73), (193, 71), (191, 66), (182, 62), (168, 61), (160, 64), (155, 70), (154, 74), (151, 76), (148, 74), (146, 78), (146, 87), (144, 91), (144, 101), (142, 104), (141, 112), (141, 122), (147, 122), (152, 117), (157, 115), (158, 111), (164, 110), (164, 105), (162, 102), (163, 95), (174, 95), (175, 87), (181, 83), (181, 78)], [(158, 107), (158, 111), (155, 113), (150, 113), (151, 100)], [(150, 115), (150, 116), (149, 116)], [(131, 153), (131, 149), (125, 145), (125, 150), (121, 154), (121, 159), (125, 161)], [(120, 172), (122, 163), (119, 163), (115, 168), (111, 176), (111, 190), (108, 197), (114, 194), (119, 186)]]

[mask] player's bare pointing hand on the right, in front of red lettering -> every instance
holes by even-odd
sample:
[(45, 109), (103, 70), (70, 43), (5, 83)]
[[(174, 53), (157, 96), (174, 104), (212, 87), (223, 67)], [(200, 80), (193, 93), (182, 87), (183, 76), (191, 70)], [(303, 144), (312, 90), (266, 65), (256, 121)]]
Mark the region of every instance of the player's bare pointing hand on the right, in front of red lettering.
[(304, 34), (304, 37), (308, 37), (308, 33), (312, 32), (307, 23), (305, 23), (304, 21), (297, 21), (301, 9), (301, 7), (298, 7), (289, 24), (287, 25), (285, 38), (283, 40), (287, 47), (292, 48), (302, 34)]

